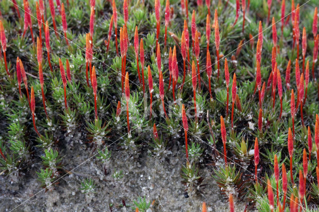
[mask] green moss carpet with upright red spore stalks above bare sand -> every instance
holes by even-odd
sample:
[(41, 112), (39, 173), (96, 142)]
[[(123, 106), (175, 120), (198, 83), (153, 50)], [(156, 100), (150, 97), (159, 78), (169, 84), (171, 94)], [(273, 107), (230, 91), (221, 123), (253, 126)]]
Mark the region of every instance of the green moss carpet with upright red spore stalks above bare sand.
[[(213, 179), (231, 212), (318, 210), (318, 3), (205, 4), (1, 1), (0, 177), (36, 173), (52, 191), (72, 173), (113, 193), (103, 177), (112, 173), (124, 188), (130, 173), (107, 166), (116, 160), (110, 148), (133, 171), (145, 157), (156, 159), (156, 174), (168, 164), (175, 174), (177, 166), (178, 192), (203, 212), (214, 205), (205, 196)], [(68, 166), (83, 149), (94, 169), (103, 161), (103, 177)], [(94, 195), (90, 180), (82, 188)], [(158, 203), (139, 198), (134, 210), (161, 211), (162, 197), (147, 194)], [(129, 210), (121, 202), (110, 211)]]

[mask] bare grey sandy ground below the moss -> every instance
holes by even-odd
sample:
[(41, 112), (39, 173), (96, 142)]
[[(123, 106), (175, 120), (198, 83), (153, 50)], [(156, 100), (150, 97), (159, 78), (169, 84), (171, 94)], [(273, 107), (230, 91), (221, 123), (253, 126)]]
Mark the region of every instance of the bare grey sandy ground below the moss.
[[(154, 201), (151, 208), (153, 212), (200, 212), (202, 202), (206, 202), (208, 211), (228, 211), (228, 202), (211, 177), (210, 166), (200, 168), (204, 176), (203, 184), (207, 184), (201, 189), (202, 194), (189, 194), (185, 198), (185, 188), (180, 183), (179, 175), (185, 156), (176, 146), (174, 148), (167, 151), (166, 158), (159, 159), (151, 155), (150, 151), (134, 158), (129, 156), (128, 151), (114, 144), (110, 147), (112, 157), (105, 175), (100, 160), (95, 157), (87, 160), (92, 156), (92, 149), (87, 148), (86, 144), (76, 143), (73, 148), (60, 150), (60, 155), (65, 155), (62, 161), (68, 161), (64, 168), (71, 170), (87, 161), (74, 169), (72, 174), (61, 178), (52, 191), (41, 191), (37, 181), (36, 171), (42, 167), (39, 158), (32, 159), (29, 162), (32, 165), (26, 166), (31, 168), (20, 171), (19, 176), (14, 176), (17, 172), (1, 175), (0, 211), (10, 211), (22, 203), (15, 211), (110, 211), (110, 204), (113, 205), (113, 212), (135, 211), (133, 201), (137, 201), (139, 196)], [(124, 177), (121, 180), (112, 177), (115, 170), (123, 171)], [(64, 174), (60, 173), (60, 176)], [(84, 194), (80, 191), (81, 181), (85, 178), (94, 180), (94, 193)], [(122, 200), (126, 207), (123, 207)], [(237, 211), (243, 211), (244, 206), (244, 203), (235, 203)]]

